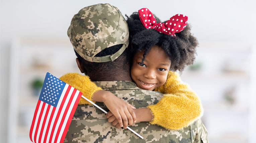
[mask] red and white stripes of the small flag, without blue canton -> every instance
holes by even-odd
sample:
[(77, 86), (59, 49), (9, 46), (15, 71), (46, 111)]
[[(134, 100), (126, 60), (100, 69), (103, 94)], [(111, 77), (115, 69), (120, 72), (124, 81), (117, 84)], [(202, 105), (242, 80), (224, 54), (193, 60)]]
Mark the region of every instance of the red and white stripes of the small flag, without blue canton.
[(80, 91), (66, 84), (56, 107), (38, 100), (30, 140), (34, 143), (63, 143), (81, 95)]

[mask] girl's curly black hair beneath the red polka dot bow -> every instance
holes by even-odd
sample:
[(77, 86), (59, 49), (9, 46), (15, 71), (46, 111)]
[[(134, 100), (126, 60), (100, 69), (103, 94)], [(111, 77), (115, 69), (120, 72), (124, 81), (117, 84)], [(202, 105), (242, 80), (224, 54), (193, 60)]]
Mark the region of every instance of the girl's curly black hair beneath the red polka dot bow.
[[(175, 34), (176, 38), (173, 38), (170, 35), (159, 33), (154, 29), (145, 28), (140, 21), (138, 12), (134, 12), (130, 17), (125, 16), (127, 17), (129, 27), (130, 44), (132, 44), (133, 47), (132, 53), (145, 50), (143, 61), (152, 46), (157, 45), (161, 47), (170, 58), (171, 71), (183, 71), (186, 65), (193, 64), (198, 41), (190, 33), (189, 24), (187, 24), (183, 31)], [(155, 18), (157, 23), (161, 22), (156, 16)]]

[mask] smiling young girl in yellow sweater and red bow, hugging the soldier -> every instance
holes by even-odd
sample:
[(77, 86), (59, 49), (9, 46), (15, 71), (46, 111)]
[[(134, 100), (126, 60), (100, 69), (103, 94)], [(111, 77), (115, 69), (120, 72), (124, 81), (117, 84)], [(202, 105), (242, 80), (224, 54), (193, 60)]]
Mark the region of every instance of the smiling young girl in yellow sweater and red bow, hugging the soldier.
[[(83, 95), (104, 102), (110, 110), (106, 115), (108, 122), (117, 128), (141, 121), (168, 129), (188, 126), (202, 115), (203, 109), (198, 96), (175, 72), (193, 64), (195, 59), (198, 42), (190, 33), (187, 17), (175, 15), (160, 23), (147, 8), (143, 8), (127, 17), (127, 23), (134, 55), (132, 79), (141, 89), (164, 93), (163, 98), (155, 105), (134, 109), (111, 92), (101, 90), (88, 76), (84, 79), (88, 81), (88, 89), (93, 90), (82, 91)], [(65, 77), (61, 80), (65, 81)], [(79, 104), (90, 103), (81, 98)]]

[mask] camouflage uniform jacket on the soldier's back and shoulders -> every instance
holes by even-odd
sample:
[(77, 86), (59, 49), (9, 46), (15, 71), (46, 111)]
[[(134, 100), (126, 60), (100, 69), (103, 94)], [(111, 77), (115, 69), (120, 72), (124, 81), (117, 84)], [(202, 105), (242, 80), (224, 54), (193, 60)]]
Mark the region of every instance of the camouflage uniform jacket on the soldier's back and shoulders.
[[(156, 104), (163, 96), (156, 91), (139, 89), (130, 81), (96, 81), (97, 86), (108, 90), (136, 108)], [(97, 105), (108, 111), (104, 103)], [(144, 137), (139, 138), (128, 129), (117, 129), (107, 122), (104, 112), (93, 105), (77, 107), (65, 143), (207, 143), (207, 131), (201, 120), (182, 130), (167, 130), (149, 122), (130, 126)]]

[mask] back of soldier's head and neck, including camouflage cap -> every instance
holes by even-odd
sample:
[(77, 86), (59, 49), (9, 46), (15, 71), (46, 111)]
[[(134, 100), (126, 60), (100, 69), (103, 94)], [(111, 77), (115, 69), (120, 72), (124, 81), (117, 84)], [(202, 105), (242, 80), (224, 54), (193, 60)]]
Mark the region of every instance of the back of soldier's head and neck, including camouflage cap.
[(96, 4), (81, 9), (71, 21), (68, 36), (79, 69), (92, 80), (131, 80), (129, 29), (116, 7)]

